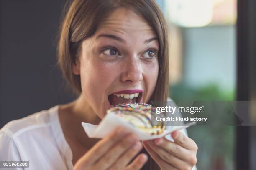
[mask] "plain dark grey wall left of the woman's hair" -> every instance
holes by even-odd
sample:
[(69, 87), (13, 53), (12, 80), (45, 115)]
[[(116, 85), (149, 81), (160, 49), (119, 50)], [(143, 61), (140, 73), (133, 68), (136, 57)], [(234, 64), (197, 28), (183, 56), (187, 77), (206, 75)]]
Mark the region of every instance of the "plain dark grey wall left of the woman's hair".
[(0, 0), (0, 128), (74, 99), (56, 65), (65, 0)]

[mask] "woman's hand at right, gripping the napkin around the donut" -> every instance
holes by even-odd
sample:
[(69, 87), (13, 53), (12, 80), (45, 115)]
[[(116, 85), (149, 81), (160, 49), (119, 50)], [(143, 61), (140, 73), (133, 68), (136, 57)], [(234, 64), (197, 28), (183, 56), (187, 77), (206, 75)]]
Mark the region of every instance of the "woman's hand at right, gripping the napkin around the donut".
[(143, 141), (161, 170), (191, 170), (197, 163), (197, 144), (181, 132), (172, 133), (174, 142), (165, 138)]

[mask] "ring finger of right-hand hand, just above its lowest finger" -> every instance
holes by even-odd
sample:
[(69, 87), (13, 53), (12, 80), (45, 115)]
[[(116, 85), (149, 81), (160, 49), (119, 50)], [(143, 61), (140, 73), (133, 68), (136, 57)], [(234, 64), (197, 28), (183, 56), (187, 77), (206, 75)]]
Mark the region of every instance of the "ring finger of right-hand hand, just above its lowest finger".
[(191, 168), (191, 165), (189, 165), (184, 160), (181, 160), (177, 158), (176, 156), (172, 155), (171, 153), (167, 152), (163, 148), (155, 145), (153, 142), (148, 142), (148, 146), (154, 150), (163, 160), (165, 160), (167, 163), (170, 163), (177, 169), (187, 170)]

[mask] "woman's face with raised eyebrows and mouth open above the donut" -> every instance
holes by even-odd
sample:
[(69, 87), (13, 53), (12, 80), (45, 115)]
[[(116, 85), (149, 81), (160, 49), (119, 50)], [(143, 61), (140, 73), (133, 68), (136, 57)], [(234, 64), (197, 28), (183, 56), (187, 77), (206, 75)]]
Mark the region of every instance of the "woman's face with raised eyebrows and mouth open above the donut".
[(145, 103), (158, 77), (157, 36), (146, 21), (120, 8), (82, 42), (79, 64), (82, 95), (100, 118), (111, 105)]

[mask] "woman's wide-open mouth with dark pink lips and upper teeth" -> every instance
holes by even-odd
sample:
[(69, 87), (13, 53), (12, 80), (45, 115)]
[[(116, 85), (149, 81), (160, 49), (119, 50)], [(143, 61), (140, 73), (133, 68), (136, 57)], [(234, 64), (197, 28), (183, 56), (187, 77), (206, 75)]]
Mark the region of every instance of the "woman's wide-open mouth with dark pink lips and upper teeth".
[(113, 106), (123, 103), (140, 103), (141, 97), (142, 90), (125, 90), (108, 95), (108, 102)]

